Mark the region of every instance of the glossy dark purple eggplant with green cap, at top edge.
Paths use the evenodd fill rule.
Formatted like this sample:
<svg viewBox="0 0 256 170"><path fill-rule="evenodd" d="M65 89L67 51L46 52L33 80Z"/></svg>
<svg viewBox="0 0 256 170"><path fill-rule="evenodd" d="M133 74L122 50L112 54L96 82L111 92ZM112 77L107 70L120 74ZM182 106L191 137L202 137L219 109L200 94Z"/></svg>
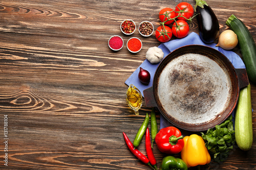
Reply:
<svg viewBox="0 0 256 170"><path fill-rule="evenodd" d="M218 18L205 1L195 1L199 36L204 43L212 43L220 34Z"/></svg>

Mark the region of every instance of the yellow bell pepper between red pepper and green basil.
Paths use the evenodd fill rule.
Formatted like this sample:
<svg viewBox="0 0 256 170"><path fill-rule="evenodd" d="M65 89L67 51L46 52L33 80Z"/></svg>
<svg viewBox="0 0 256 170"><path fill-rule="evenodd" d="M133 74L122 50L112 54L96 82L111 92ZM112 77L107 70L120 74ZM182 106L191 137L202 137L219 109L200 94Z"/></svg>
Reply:
<svg viewBox="0 0 256 170"><path fill-rule="evenodd" d="M186 163L187 167L210 163L210 154L201 136L192 134L185 136L183 139L184 148L181 151L181 159Z"/></svg>

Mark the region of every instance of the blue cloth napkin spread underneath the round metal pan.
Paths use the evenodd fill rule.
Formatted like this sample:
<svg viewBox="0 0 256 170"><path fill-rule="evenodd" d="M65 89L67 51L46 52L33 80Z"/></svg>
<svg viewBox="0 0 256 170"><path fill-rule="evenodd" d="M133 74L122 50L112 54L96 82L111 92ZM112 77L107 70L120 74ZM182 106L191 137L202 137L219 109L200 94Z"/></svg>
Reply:
<svg viewBox="0 0 256 170"><path fill-rule="evenodd" d="M199 35L195 32L191 32L185 38L175 39L175 40L171 40L171 41L168 41L168 42L165 42L165 43L161 43L158 47L162 49L162 51L164 53L164 57L166 57L170 52L176 50L177 48L185 46L185 45L191 45L191 44L205 45L205 46L215 48L216 50L218 50L222 54L224 54L231 61L234 68L245 68L245 65L244 65L244 63L243 63L243 61L242 61L242 59L240 58L239 55L237 55L236 53L234 53L232 51L223 50L223 48L221 48L221 47L216 47L215 43L205 44L200 39ZM154 78L155 71L156 71L159 64L160 63L151 64L151 62L146 59L133 72L133 74L125 81L125 84L128 85L128 86L130 84L133 84L135 87L137 87L141 91L142 96L144 97L143 90L153 86L153 78ZM146 69L148 72L150 72L151 80L150 80L150 83L148 85L144 85L139 81L138 74L139 74L139 71L140 71L140 67L142 67L143 69ZM232 113L232 115L234 117L234 112ZM162 114L160 114L160 129L162 129L164 127L168 127L168 126L173 126L173 125L171 123L169 123L168 120L166 120L162 116Z"/></svg>

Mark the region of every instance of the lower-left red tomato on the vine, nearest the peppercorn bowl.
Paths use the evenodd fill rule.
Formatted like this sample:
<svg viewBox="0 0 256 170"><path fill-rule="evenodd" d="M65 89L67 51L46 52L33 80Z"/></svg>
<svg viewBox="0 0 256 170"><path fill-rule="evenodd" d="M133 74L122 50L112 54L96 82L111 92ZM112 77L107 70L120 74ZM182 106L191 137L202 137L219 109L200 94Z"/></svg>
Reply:
<svg viewBox="0 0 256 170"><path fill-rule="evenodd" d="M173 33L172 33L172 29L169 28L168 26L159 26L156 30L155 35L158 41L167 42L172 38Z"/></svg>

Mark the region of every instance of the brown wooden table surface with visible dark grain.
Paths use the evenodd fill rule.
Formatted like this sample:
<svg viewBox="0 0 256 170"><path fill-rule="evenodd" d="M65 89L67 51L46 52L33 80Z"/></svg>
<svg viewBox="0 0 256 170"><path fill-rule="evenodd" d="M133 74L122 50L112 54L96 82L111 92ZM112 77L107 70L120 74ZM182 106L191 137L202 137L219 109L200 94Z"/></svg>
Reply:
<svg viewBox="0 0 256 170"><path fill-rule="evenodd" d="M145 60L148 48L160 42L138 31L125 36L120 23L129 18L138 27L148 20L156 28L159 11L174 9L180 2L2 0L0 169L151 169L127 149L122 135L125 132L133 140L151 108L143 102L140 115L135 115L126 104L124 82ZM195 1L184 2L195 6ZM225 21L234 14L256 39L255 0L207 3L219 19L221 32L228 29ZM198 34L196 18L190 32ZM125 43L138 37L143 48L137 54L125 46L114 52L108 46L112 35L120 35ZM242 57L239 46L232 51ZM256 85L252 82L251 100L251 150L243 152L235 145L223 163L211 161L201 169L256 169ZM157 122L159 126L159 113ZM144 143L143 139L139 150L146 154ZM159 167L166 155L156 145L153 152Z"/></svg>

